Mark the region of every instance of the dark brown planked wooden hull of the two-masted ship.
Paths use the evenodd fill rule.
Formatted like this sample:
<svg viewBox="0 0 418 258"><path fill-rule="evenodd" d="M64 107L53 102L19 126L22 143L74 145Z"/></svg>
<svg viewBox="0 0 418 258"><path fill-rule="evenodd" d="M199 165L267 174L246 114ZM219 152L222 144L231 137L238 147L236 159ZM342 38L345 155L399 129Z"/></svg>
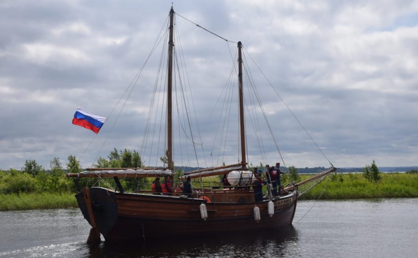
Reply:
<svg viewBox="0 0 418 258"><path fill-rule="evenodd" d="M118 193L99 187L90 188L90 195L95 225L106 241L272 231L291 225L296 209L294 192L273 201L272 217L268 214L269 200L211 202L206 203L208 218L204 220L199 209L201 199ZM92 225L83 192L76 197L84 217ZM260 210L258 222L254 219L255 206Z"/></svg>

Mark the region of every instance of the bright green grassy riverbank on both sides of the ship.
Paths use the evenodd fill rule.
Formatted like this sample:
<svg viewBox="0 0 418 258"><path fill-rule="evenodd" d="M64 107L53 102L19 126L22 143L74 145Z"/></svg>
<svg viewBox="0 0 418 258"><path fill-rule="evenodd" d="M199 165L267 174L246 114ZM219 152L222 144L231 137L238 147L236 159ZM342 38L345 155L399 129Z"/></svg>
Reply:
<svg viewBox="0 0 418 258"><path fill-rule="evenodd" d="M301 175L302 179L312 175ZM382 173L378 182L362 174L333 174L300 199L418 198L418 174ZM322 194L322 195L321 195ZM21 193L0 195L0 210L78 207L74 193Z"/></svg>

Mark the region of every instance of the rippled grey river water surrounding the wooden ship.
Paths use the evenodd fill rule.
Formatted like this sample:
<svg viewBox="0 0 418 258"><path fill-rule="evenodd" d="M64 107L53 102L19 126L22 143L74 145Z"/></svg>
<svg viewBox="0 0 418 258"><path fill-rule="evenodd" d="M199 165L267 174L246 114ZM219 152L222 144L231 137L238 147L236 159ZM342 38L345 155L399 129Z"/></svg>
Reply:
<svg viewBox="0 0 418 258"><path fill-rule="evenodd" d="M416 198L299 201L278 232L114 246L85 243L79 209L3 211L0 257L418 257L417 214Z"/></svg>

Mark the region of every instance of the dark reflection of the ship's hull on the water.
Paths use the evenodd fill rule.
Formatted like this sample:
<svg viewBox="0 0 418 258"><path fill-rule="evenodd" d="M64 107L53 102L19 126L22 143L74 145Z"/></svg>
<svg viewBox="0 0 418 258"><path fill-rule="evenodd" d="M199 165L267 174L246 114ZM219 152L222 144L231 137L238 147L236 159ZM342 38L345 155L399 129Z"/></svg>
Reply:
<svg viewBox="0 0 418 258"><path fill-rule="evenodd" d="M102 242L89 245L88 248L90 257L280 257L288 255L290 250L294 252L295 242L297 231L290 226L276 232L193 239L179 236L145 244Z"/></svg>

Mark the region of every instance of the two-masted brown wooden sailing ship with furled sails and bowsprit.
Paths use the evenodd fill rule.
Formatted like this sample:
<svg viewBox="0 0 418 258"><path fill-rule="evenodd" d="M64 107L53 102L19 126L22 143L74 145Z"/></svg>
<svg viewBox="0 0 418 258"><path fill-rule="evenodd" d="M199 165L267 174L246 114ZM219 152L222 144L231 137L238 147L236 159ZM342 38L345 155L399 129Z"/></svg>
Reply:
<svg viewBox="0 0 418 258"><path fill-rule="evenodd" d="M172 128L172 70L173 70L173 17L169 14L168 75L167 75L167 160L164 168L91 168L83 173L67 174L74 177L79 192L77 198L80 209L91 225L88 242L135 240L144 241L169 236L203 236L209 234L241 232L253 230L276 230L291 225L298 197L298 187L309 181L323 179L335 170L331 167L323 173L298 184L284 188L276 197L255 201L251 189L252 176L245 185L238 184L227 189L202 188L200 193L186 198L181 195L153 195L146 191L125 192L120 179L174 176L173 128ZM248 171L245 148L244 101L242 78L242 44L238 42L238 81L240 110L241 161L238 164L199 169L184 173L191 178L202 178L229 174L239 171L241 175L252 175ZM105 187L81 188L79 178L113 178L116 189Z"/></svg>

